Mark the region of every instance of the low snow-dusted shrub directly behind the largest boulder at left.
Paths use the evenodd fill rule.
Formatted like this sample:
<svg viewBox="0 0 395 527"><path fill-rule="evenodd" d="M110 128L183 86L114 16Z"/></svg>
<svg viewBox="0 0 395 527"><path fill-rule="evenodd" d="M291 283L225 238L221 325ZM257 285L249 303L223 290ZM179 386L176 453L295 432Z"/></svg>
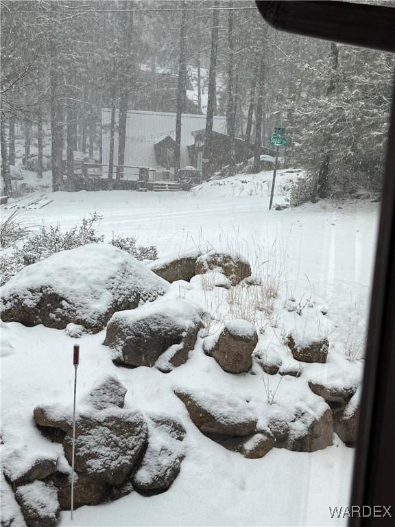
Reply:
<svg viewBox="0 0 395 527"><path fill-rule="evenodd" d="M59 226L49 228L42 226L40 231L29 237L20 248L14 244L12 253L0 256L1 285L25 266L59 253L61 250L74 249L86 244L103 243L104 235L97 233L94 227L95 222L100 219L101 216L95 212L89 218L84 218L80 226L76 225L64 233L60 232ZM132 237L113 238L110 243L138 260L154 260L158 257L156 247L136 246L136 239Z"/></svg>

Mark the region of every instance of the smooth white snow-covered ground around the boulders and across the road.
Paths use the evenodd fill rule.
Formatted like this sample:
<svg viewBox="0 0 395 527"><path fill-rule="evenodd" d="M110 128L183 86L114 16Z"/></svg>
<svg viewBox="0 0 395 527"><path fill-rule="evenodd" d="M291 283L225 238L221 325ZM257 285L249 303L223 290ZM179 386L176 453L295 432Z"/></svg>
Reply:
<svg viewBox="0 0 395 527"><path fill-rule="evenodd" d="M32 225L59 224L69 229L93 211L102 215L101 233L130 235L156 245L160 257L196 246L233 250L245 256L253 274L271 266L280 290L296 304L307 299L331 320L333 357L363 338L376 235L378 204L318 202L297 209L268 211L272 172L242 175L204 183L190 193L154 194L132 191L48 194L43 209L26 211ZM287 183L295 172L278 173L275 204L283 204ZM289 292L291 294L289 294ZM173 294L176 294L173 290ZM193 292L183 292L189 297ZM74 340L65 331L43 326L3 324L1 331L1 409L5 445L53 449L32 425L32 410L43 401L71 403ZM86 393L103 373L113 373L128 388L130 408L171 413L187 428L187 456L169 491L143 497L136 492L111 504L84 506L61 516L61 526L329 526L329 506L348 504L353 450L338 438L331 447L312 454L272 449L250 460L229 452L203 436L189 421L187 410L173 395L175 386L259 393L258 376L238 383L203 353L164 375L155 368L133 370L112 364L102 345L104 331L80 338L80 393ZM337 360L337 359L336 359ZM210 365L210 366L209 366ZM340 366L339 366L340 365ZM337 360L344 375L361 375L361 362ZM290 377L292 379L292 377ZM240 387L241 386L241 387ZM291 397L288 380L278 397ZM283 391L281 391L283 390ZM281 395L281 393L283 395ZM284 400L285 400L284 399ZM282 399L281 399L282 400Z"/></svg>

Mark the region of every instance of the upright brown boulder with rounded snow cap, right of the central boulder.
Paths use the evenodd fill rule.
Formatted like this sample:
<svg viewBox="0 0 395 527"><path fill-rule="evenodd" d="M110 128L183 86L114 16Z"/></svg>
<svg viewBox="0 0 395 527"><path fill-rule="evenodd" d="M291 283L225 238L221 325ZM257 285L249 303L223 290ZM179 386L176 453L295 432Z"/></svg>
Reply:
<svg viewBox="0 0 395 527"><path fill-rule="evenodd" d="M228 373L242 373L252 366L258 333L248 320L229 320L211 350L219 366Z"/></svg>

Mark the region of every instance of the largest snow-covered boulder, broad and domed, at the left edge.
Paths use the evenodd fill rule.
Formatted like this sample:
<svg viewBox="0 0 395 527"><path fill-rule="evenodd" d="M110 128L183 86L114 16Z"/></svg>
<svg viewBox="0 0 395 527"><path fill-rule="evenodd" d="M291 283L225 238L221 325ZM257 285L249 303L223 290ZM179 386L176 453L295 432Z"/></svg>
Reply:
<svg viewBox="0 0 395 527"><path fill-rule="evenodd" d="M93 333L112 314L153 301L169 284L111 244L62 250L23 268L0 290L1 318L25 326L64 329L69 323Z"/></svg>

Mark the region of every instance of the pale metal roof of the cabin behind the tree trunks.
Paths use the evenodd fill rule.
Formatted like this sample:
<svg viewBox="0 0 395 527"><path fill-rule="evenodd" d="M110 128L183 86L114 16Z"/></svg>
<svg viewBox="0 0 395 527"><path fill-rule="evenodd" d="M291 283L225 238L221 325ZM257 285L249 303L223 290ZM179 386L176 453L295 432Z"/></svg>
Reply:
<svg viewBox="0 0 395 527"><path fill-rule="evenodd" d="M101 110L103 164L110 154L111 110ZM118 110L115 115L114 163L118 162ZM194 143L192 132L206 127L206 115L183 114L181 120L181 167L190 165L187 146ZM213 130L226 133L226 117L214 117ZM176 114L167 112L128 111L126 121L125 165L155 167L154 144L167 135L176 139Z"/></svg>

